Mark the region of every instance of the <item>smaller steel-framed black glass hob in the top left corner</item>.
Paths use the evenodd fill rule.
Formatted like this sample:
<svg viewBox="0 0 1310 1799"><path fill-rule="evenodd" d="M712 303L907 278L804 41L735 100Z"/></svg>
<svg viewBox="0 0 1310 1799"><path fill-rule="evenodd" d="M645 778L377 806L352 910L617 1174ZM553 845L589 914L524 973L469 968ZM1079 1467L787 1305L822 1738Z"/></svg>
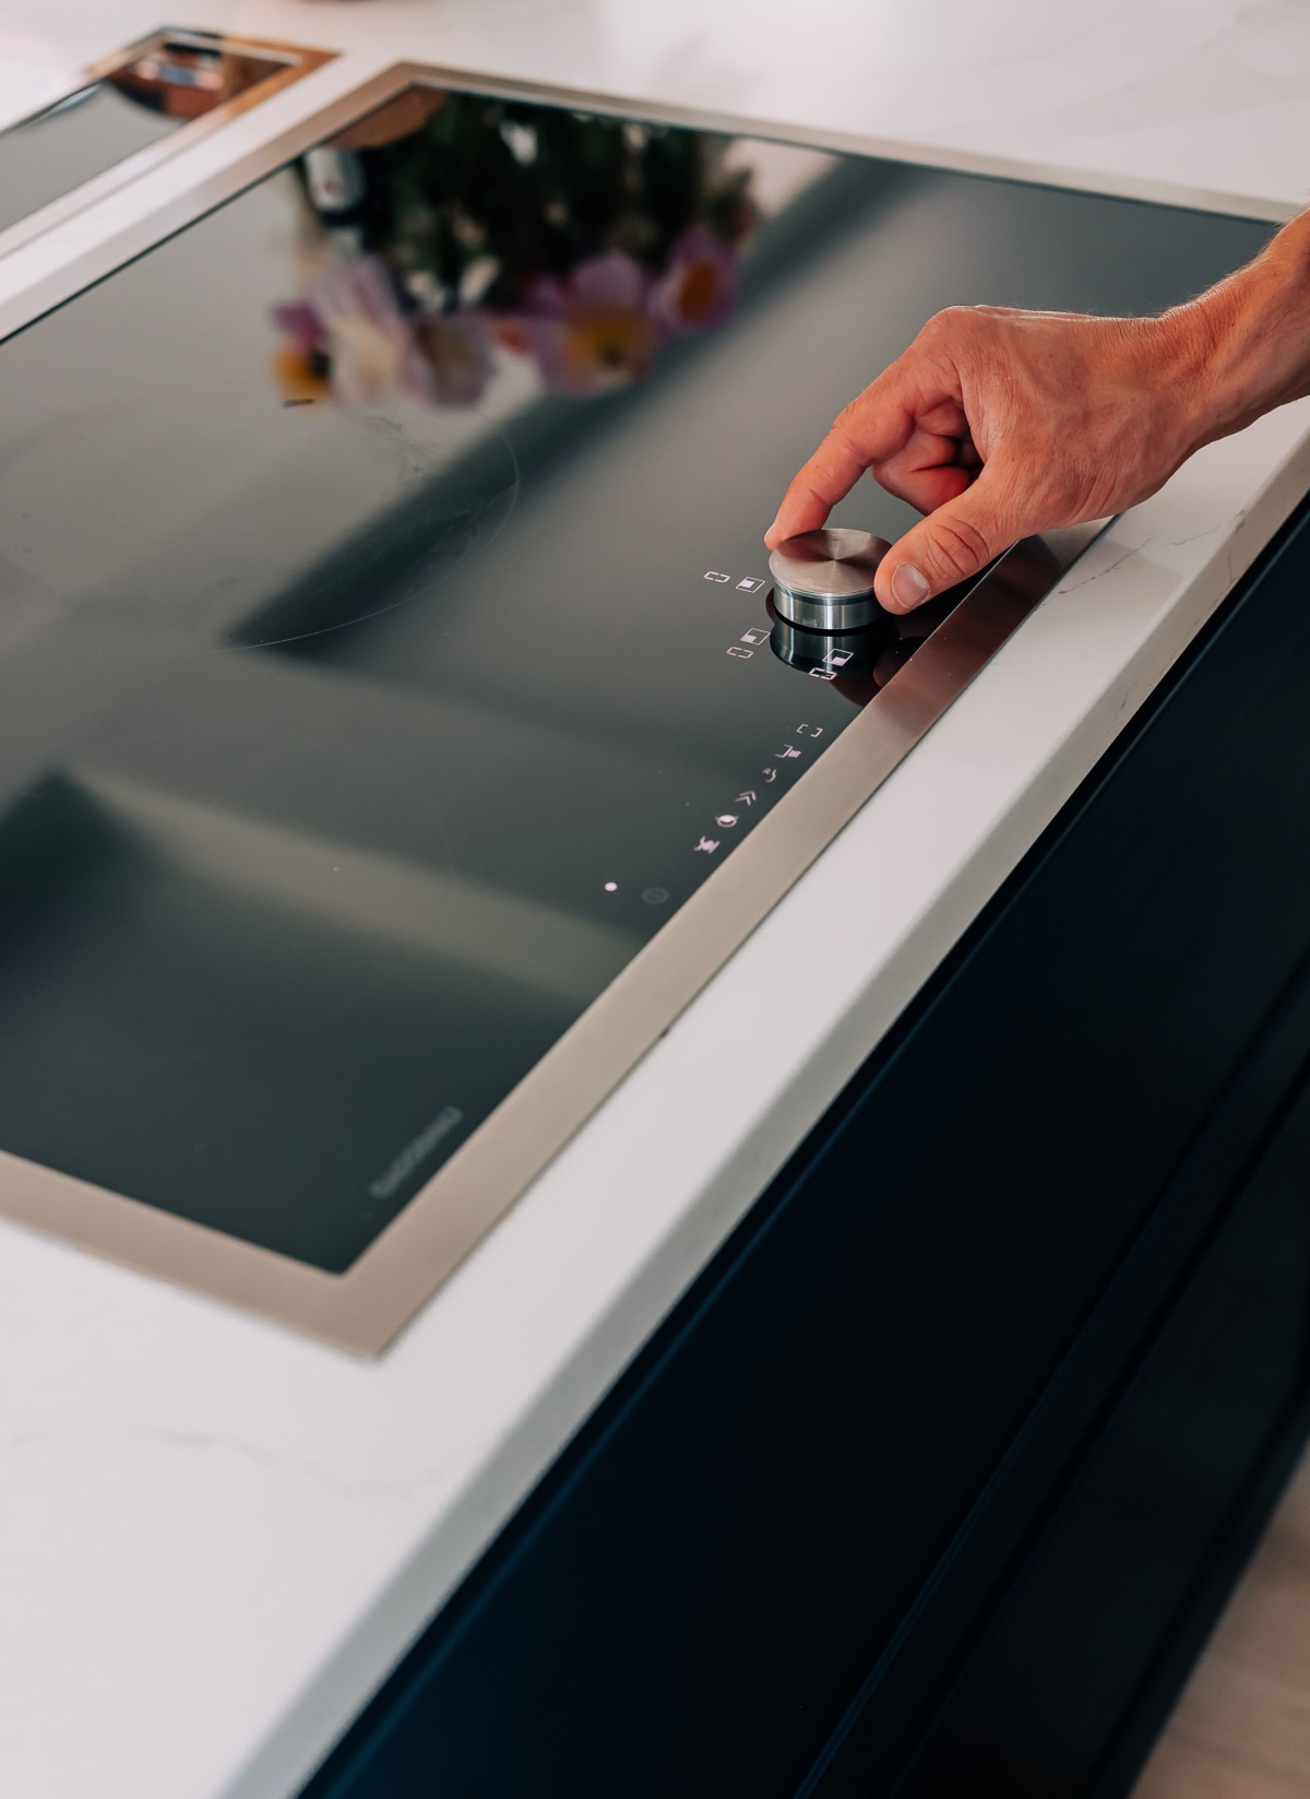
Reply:
<svg viewBox="0 0 1310 1799"><path fill-rule="evenodd" d="M0 130L0 254L153 167L196 121L221 124L325 61L207 31L156 31L115 50L72 94Z"/></svg>

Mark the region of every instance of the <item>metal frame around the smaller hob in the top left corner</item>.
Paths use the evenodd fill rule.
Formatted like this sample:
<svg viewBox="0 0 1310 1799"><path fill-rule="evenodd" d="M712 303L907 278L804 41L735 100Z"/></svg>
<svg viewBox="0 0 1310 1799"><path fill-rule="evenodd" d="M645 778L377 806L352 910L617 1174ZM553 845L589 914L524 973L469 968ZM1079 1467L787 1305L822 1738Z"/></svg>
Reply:
<svg viewBox="0 0 1310 1799"><path fill-rule="evenodd" d="M162 49L167 43L185 45L187 49L217 49L232 56L250 54L266 58L273 63L282 63L284 67L277 74L264 76L262 81L255 81L252 86L243 88L241 94L234 94L232 99L221 101L198 119L178 126L176 131L158 139L158 142L147 144L146 149L133 151L131 157L122 157L108 169L102 169L101 175L92 176L88 182L79 182L77 187L72 187L66 194L59 194L58 200L50 200L49 205L38 207L36 212L29 212L27 218L14 219L13 225L0 232L0 257L9 255L13 250L31 243L34 237L43 236L43 232L52 230L56 225L63 225L65 219L74 218L77 212L84 212L86 207L95 205L99 200L106 200L128 182L135 182L138 176L156 169L162 162L176 157L178 151L187 149L198 139L216 131L221 124L226 124L228 119L235 119L239 113L248 112L252 106L270 99L273 94L280 94L282 88L304 79L304 76L313 74L314 68L322 68L338 56L336 50L311 50L305 45L275 43L262 38L232 38L225 32L153 31L149 36L138 38L135 43L124 45L124 49L113 50L110 56L92 63L86 76L77 83L77 86L70 88L63 99L68 99L72 94L79 94L95 81L104 81L108 76L117 74L117 70L126 68L142 56L147 56L153 49ZM59 99L47 101L43 106L38 106L34 113L29 113L27 119L40 117L40 113L49 112L58 104ZM4 130L20 130L27 124L27 119L14 119Z"/></svg>

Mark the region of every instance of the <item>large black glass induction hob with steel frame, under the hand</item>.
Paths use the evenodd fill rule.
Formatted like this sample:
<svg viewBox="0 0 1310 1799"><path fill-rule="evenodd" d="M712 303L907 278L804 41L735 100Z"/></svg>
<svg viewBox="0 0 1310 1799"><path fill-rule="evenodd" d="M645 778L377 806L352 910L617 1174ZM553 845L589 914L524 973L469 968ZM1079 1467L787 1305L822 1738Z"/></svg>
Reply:
<svg viewBox="0 0 1310 1799"><path fill-rule="evenodd" d="M0 344L0 1209L376 1351L1091 534L798 631L828 419L1269 228L412 68L196 212Z"/></svg>

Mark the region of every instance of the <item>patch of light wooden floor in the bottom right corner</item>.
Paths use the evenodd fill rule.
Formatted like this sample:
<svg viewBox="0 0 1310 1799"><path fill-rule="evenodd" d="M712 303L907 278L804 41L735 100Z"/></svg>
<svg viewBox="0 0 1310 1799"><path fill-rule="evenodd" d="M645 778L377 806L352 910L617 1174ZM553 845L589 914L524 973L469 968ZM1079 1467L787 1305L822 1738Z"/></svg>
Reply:
<svg viewBox="0 0 1310 1799"><path fill-rule="evenodd" d="M1310 1455L1132 1799L1308 1799Z"/></svg>

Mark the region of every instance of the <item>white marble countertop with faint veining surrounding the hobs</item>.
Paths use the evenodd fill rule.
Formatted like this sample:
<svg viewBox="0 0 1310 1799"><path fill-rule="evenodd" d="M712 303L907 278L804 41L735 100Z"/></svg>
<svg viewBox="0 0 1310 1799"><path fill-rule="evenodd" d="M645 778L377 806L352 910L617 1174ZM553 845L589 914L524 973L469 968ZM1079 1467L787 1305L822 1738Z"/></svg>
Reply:
<svg viewBox="0 0 1310 1799"><path fill-rule="evenodd" d="M7 259L0 302L397 58L1263 218L1310 191L1306 0L185 14L347 54ZM9 0L0 117L158 23ZM0 1223L0 1792L289 1799L1308 486L1303 403L1121 518L383 1358Z"/></svg>

